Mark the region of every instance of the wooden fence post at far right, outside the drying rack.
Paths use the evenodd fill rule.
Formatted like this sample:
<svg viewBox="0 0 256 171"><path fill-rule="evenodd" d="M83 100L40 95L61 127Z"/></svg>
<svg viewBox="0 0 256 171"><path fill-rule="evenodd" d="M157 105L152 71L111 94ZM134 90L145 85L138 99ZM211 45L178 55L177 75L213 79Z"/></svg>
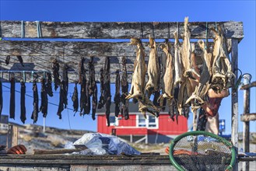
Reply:
<svg viewBox="0 0 256 171"><path fill-rule="evenodd" d="M247 79L247 78L245 78ZM250 81L248 82L250 83ZM244 113L250 113L250 88L244 90ZM243 123L243 148L250 152L250 121ZM249 170L249 162L243 162L243 170Z"/></svg>

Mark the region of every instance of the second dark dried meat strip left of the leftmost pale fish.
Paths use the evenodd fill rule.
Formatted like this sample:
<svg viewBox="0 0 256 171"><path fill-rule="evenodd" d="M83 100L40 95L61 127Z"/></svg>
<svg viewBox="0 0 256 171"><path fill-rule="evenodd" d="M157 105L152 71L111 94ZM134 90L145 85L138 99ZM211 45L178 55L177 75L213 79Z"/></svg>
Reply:
<svg viewBox="0 0 256 171"><path fill-rule="evenodd" d="M121 103L121 96L120 96L120 75L119 69L116 71L116 80L115 80L115 94L114 94L114 115L118 117L120 113L120 103Z"/></svg>

